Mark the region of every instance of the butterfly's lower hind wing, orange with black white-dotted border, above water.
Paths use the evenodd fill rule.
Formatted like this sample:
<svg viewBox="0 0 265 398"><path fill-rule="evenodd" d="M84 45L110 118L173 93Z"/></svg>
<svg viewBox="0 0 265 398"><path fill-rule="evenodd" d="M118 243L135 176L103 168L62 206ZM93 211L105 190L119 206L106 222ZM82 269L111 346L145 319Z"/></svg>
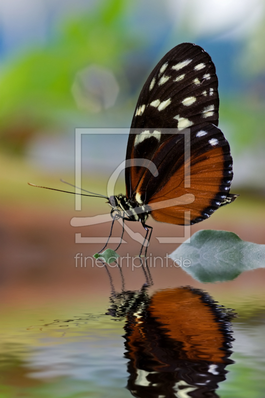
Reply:
<svg viewBox="0 0 265 398"><path fill-rule="evenodd" d="M165 142L154 155L160 176L145 172L139 181L137 198L148 203L152 217L172 224L189 224L185 211L190 211L190 224L208 218L225 204L233 178L230 147L222 131L213 124L191 127L190 158L184 158L182 138ZM182 144L182 145L181 145ZM160 159L163 161L160 162ZM177 161L176 161L177 158ZM185 165L190 165L190 184L185 180ZM193 195L194 201L183 205L155 209L156 202Z"/></svg>

